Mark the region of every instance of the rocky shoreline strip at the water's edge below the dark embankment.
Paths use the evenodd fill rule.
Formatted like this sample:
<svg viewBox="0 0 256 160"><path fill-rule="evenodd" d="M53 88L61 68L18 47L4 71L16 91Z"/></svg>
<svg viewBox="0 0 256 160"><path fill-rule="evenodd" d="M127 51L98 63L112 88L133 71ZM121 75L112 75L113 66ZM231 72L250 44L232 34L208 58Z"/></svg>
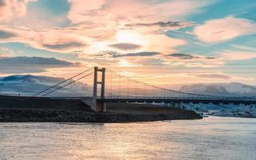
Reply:
<svg viewBox="0 0 256 160"><path fill-rule="evenodd" d="M181 114L111 114L81 110L0 109L0 122L151 122L202 118L193 111Z"/></svg>

